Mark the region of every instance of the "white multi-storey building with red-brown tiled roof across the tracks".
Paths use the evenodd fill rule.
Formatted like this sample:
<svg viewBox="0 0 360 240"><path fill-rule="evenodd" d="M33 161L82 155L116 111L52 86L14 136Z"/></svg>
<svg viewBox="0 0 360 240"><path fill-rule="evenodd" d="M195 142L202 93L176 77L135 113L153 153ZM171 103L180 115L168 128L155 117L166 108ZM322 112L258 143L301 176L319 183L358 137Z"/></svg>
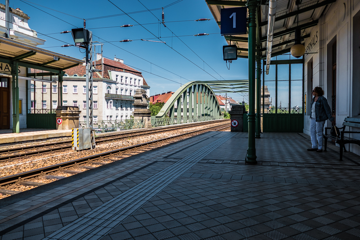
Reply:
<svg viewBox="0 0 360 240"><path fill-rule="evenodd" d="M150 95L148 86L141 72L125 65L122 59L101 58L96 60L93 73L93 114L94 121L114 121L129 119L134 110L134 94L137 89L144 89ZM37 87L39 89L39 87ZM53 95L53 96L51 96ZM56 109L59 103L58 86L42 83L36 102L43 109ZM80 64L69 68L63 76L62 105L75 106L81 110L80 122L86 121L86 65Z"/></svg>

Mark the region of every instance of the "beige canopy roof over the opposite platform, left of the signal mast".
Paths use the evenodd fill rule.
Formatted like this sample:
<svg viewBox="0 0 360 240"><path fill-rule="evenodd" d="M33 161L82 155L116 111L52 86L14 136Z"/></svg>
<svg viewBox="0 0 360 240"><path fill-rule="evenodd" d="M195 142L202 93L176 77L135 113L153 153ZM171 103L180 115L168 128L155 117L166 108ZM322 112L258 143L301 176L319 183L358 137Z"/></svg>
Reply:
<svg viewBox="0 0 360 240"><path fill-rule="evenodd" d="M0 37L0 62L12 64L15 60L22 67L58 74L84 62L80 59Z"/></svg>

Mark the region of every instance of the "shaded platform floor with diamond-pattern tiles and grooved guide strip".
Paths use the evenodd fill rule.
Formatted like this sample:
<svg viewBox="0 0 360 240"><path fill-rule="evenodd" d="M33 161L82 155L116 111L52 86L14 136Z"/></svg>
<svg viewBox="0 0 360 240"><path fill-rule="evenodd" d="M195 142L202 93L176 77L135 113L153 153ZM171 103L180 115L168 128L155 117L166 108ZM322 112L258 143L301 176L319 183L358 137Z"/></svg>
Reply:
<svg viewBox="0 0 360 240"><path fill-rule="evenodd" d="M0 200L1 240L359 239L360 157L207 132Z"/></svg>

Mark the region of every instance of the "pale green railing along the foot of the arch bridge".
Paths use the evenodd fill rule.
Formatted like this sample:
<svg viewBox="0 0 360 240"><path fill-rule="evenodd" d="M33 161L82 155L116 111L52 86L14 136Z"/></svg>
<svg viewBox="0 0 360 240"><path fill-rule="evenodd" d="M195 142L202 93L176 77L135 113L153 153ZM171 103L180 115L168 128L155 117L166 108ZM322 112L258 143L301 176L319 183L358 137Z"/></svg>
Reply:
<svg viewBox="0 0 360 240"><path fill-rule="evenodd" d="M180 124L180 123L190 123L190 122L201 122L201 121L210 121L210 120L217 120L222 119L223 116L202 116L202 117L175 117L175 118L152 118L151 124L153 127L159 126L167 126L173 124Z"/></svg>

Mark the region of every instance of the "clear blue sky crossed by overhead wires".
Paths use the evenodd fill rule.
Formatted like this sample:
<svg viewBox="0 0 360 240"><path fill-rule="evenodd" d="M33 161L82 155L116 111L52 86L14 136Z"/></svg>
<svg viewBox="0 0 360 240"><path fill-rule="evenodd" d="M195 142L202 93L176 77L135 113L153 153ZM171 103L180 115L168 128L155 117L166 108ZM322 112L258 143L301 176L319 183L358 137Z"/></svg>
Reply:
<svg viewBox="0 0 360 240"><path fill-rule="evenodd" d="M174 3L175 1L176 0L140 0L140 2L148 9L162 8L166 5ZM144 27L138 25L138 23L136 23L127 15L91 20L90 18L123 14L120 9L107 0L30 0L30 2L25 0L10 0L10 6L13 8L20 8L24 13L28 14L31 18L29 20L30 28L37 31L40 38L47 40L45 45L39 45L39 47L46 47L47 50L72 56L78 59L82 59L85 54L80 53L77 47L54 46L60 46L66 43L73 44L71 33L59 34L59 32L65 30L70 31L71 28L75 28L74 26L82 27L82 19L88 19L86 21L86 28L91 30L93 35L96 36L93 37L93 41L99 40L104 43L103 55L107 58L114 58L114 55L116 55L117 58L123 59L125 64L143 72L145 80L151 87L151 95L166 91L176 91L180 87L180 82L186 83L188 81L194 80L220 80L219 74L222 77L221 80L239 80L248 78L247 59L238 59L233 61L233 63L230 65L230 70L227 69L225 61L222 60L222 46L226 45L226 41L224 37L220 35L220 29L217 26L215 20L212 19L213 16L204 0L182 0L172 6L168 6L164 10L165 24L167 28L161 24L160 29L159 24L149 23L158 23L158 19L161 20L161 9L152 11L152 13L156 16L155 17L152 13L148 12L147 9L141 5L138 0L113 0L112 2L126 13L145 10L145 12L129 15L130 17L134 18L135 21L147 28L147 30L145 30ZM1 0L1 3L5 4L5 1ZM55 9L59 12L44 8L44 6ZM35 7L41 9L42 11L36 9ZM55 17L49 15L48 13L54 15ZM75 17L66 14L70 14ZM205 22L194 21L195 19L199 18L211 18L212 20ZM127 28L113 27L122 26L124 24L132 24L136 26ZM169 30L174 32L174 34L177 36L183 36L180 37L180 39L187 46L189 46L191 50L176 37L171 37L172 33ZM197 33L216 34L196 37L184 36L195 35ZM46 34L47 36L41 34ZM158 42L145 42L140 40L132 42L119 42L123 39L137 40L150 38L154 38L150 40L159 41L159 39L156 39L153 34L156 35L156 37L159 37L162 41L165 41L166 45ZM98 39L98 37L102 38L103 40ZM112 42L113 45L105 42L104 40L109 42L114 41ZM181 56L175 50L183 56ZM203 59L205 63L197 55L195 55L192 50L201 59ZM139 58L138 56L145 59L146 61ZM184 58L184 56L191 62ZM149 62L156 64L170 72L173 72L181 76L181 78L175 74L156 67ZM213 71L206 63L219 74ZM203 69L206 72L203 71ZM171 82L144 71L152 72L156 75L171 79L179 83ZM210 74L207 72L212 76L210 76ZM243 100L243 96L237 93L231 93L228 95L235 100ZM245 96L245 101L248 101L247 94Z"/></svg>

